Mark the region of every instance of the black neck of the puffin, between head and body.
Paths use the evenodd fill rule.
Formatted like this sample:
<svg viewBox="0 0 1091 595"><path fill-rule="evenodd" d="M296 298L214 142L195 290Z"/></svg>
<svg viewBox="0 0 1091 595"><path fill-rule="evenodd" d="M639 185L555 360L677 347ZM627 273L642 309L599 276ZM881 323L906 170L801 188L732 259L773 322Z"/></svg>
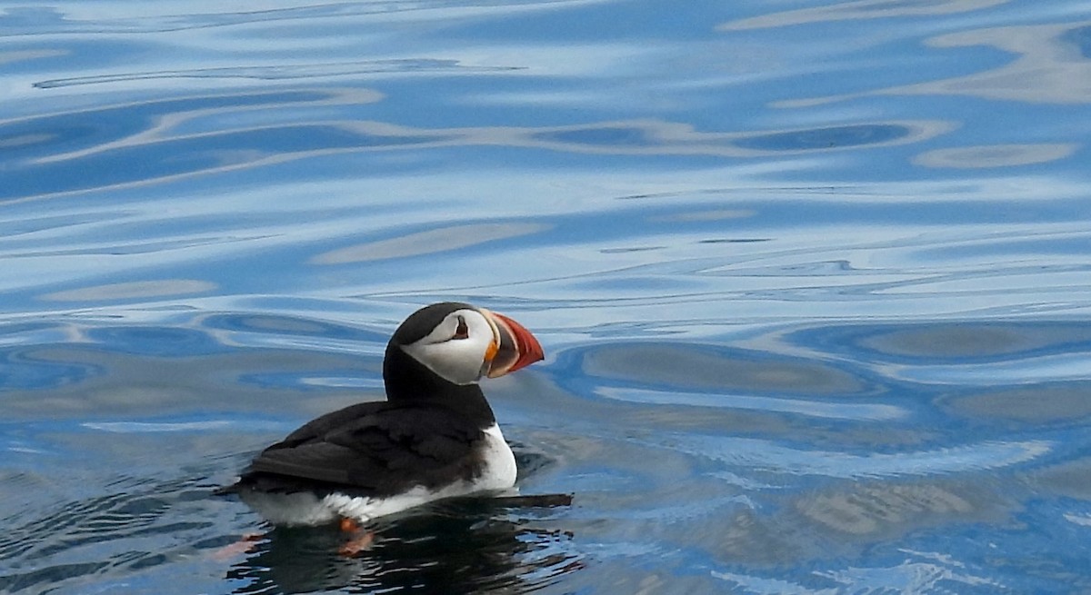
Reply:
<svg viewBox="0 0 1091 595"><path fill-rule="evenodd" d="M482 428L496 421L481 387L441 378L393 342L386 345L383 357L383 382L386 400L392 403L428 402L463 413L478 421Z"/></svg>

